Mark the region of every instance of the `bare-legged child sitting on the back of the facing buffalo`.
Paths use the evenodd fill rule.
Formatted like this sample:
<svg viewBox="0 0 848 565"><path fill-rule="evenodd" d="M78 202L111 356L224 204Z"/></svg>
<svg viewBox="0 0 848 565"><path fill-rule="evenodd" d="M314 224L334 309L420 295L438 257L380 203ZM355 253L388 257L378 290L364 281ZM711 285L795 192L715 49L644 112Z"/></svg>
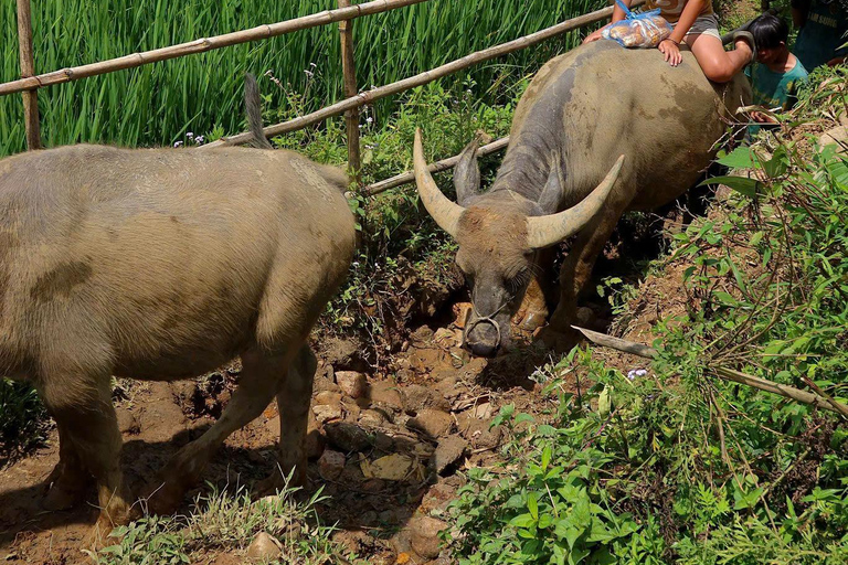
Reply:
<svg viewBox="0 0 848 565"><path fill-rule="evenodd" d="M632 0L622 0L627 8ZM750 33L738 31L733 34L732 51L724 51L719 34L719 21L712 10L712 0L648 0L646 9L659 8L660 15L674 26L671 35L664 40L657 49L665 55L671 66L677 66L683 60L680 44L686 42L698 60L698 64L712 82L727 83L754 58L755 46ZM624 19L624 10L619 6L613 12L613 22ZM591 33L584 43L601 39L601 31Z"/></svg>

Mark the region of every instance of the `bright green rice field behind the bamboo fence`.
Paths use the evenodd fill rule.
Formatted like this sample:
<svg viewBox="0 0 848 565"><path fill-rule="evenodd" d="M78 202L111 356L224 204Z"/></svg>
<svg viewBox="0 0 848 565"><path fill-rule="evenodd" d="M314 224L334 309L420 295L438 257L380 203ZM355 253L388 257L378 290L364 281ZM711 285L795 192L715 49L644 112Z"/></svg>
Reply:
<svg viewBox="0 0 848 565"><path fill-rule="evenodd" d="M431 0L357 20L360 88L404 78L605 4ZM333 0L33 1L35 70L93 63L336 7ZM0 81L8 82L20 74L14 2L0 4ZM577 41L573 33L446 81L470 85L476 96L497 102L517 79ZM327 25L43 88L42 139L47 147L138 147L173 143L188 131L206 137L234 132L243 125L247 71L273 75L276 81L265 76L259 85L271 96L268 107L280 108L280 115L316 109L342 97L339 52L338 25ZM383 104L375 117L384 120L390 111L391 104ZM24 149L22 115L20 95L0 98L0 156Z"/></svg>

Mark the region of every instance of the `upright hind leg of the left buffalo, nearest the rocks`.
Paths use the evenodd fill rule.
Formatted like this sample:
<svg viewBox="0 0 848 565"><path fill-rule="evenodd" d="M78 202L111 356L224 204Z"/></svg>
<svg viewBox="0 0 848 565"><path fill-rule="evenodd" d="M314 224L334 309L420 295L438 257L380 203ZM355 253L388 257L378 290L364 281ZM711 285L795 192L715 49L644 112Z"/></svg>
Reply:
<svg viewBox="0 0 848 565"><path fill-rule="evenodd" d="M286 381L277 393L279 408L279 444L277 469L257 484L259 492L278 490L292 473L292 484L306 484L306 431L309 425L309 406L312 398L312 381L318 361L308 344L304 344L292 361ZM294 472L292 472L294 471Z"/></svg>

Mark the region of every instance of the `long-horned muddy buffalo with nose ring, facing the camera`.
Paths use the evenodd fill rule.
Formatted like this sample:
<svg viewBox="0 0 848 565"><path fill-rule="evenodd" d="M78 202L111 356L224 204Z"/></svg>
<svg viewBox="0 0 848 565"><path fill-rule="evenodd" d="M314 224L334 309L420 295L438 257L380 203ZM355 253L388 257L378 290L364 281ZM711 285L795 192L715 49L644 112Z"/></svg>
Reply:
<svg viewBox="0 0 848 565"><path fill-rule="evenodd" d="M418 193L459 244L456 263L471 290L466 347L492 355L507 344L510 317L522 300L526 322L544 320L545 282L533 275L547 270L544 256L551 254L540 250L579 233L543 333L550 344L569 343L577 296L618 218L689 189L713 159L727 120L750 97L742 76L725 85L707 81L691 53L672 68L657 50L600 41L549 61L536 75L488 192L478 193L471 142L454 173L458 203L446 199L416 136Z"/></svg>

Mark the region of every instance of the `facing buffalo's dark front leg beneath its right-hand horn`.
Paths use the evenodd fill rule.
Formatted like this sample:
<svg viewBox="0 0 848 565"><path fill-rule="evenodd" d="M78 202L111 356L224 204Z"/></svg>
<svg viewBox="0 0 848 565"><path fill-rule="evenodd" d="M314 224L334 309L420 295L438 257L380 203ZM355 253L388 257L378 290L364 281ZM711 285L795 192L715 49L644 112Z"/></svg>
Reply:
<svg viewBox="0 0 848 565"><path fill-rule="evenodd" d="M542 340L548 347L565 351L580 341L577 332L571 328L577 317L577 299L589 285L595 260L610 241L626 207L627 202L611 200L603 212L577 235L560 270L560 303L542 333Z"/></svg>

